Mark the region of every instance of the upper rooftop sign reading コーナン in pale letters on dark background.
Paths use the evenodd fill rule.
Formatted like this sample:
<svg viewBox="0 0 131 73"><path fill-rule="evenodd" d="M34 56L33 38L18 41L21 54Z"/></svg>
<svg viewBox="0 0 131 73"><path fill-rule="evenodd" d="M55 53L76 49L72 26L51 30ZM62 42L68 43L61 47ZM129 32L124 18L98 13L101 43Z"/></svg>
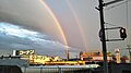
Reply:
<svg viewBox="0 0 131 73"><path fill-rule="evenodd" d="M16 56L29 56L29 54L35 54L35 50L34 49L29 49L29 50L16 50L15 51Z"/></svg>

